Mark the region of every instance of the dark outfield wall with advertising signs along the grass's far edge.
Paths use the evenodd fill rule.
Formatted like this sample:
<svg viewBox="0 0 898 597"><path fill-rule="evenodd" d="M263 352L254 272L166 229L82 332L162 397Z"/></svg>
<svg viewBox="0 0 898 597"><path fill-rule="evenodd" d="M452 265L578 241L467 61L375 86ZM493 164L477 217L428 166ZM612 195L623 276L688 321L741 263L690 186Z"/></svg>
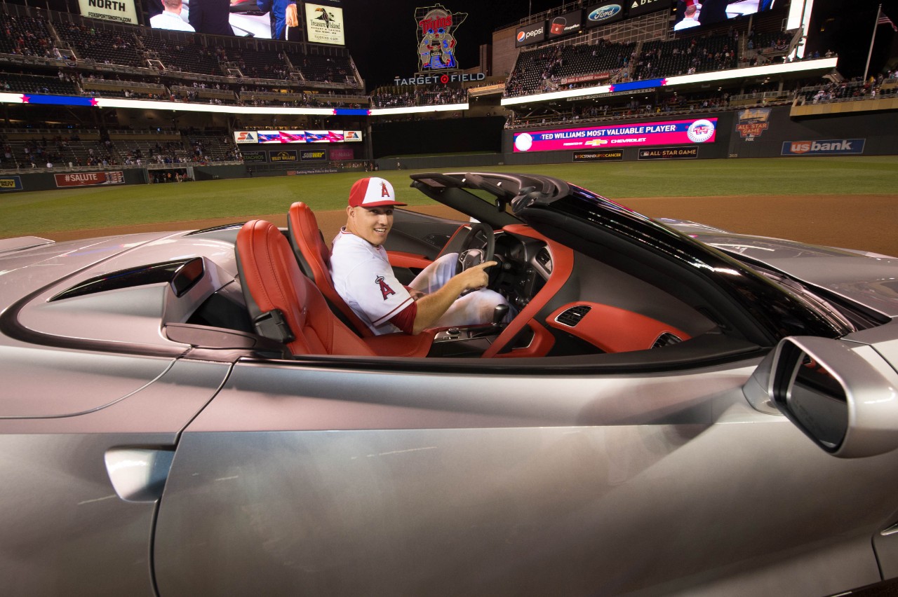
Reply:
<svg viewBox="0 0 898 597"><path fill-rule="evenodd" d="M720 158L779 158L800 159L802 156L827 155L898 155L898 115L894 111L847 114L834 117L789 117L789 106L775 108L745 108L728 112L703 112L696 115L665 116L663 114L638 120L602 121L600 123L566 123L545 125L528 129L503 130L494 133L501 136L502 152L465 155L435 155L415 158L381 158L374 160L382 170L408 169L475 169L480 167L515 167L571 162L642 161L642 160L715 160ZM709 120L716 123L713 138L703 139L707 127L687 131L682 123ZM480 119L484 125L495 124L495 118ZM445 150L437 131L444 131L458 120L417 121L396 123L394 133L409 138L409 126L414 126L415 143L436 151ZM678 123L676 132L670 129ZM385 125L382 125L385 127ZM616 127L616 128L615 128ZM640 128L641 127L641 128ZM468 127L457 126L460 136L471 135ZM592 137L578 136L585 129L603 129ZM595 142L588 147L562 151L515 151L515 134L537 135L553 132L551 143L555 145L575 142L577 139L608 139L608 143ZM643 131L648 131L643 132ZM630 133L632 132L632 133ZM379 132L379 134L384 134ZM486 129L481 134L489 134ZM689 141L683 135L689 134ZM655 136L653 136L655 135ZM666 136L665 136L666 135ZM679 136L677 136L679 135ZM617 139L623 143L637 143L645 137L648 143L634 146L615 146ZM666 140L674 143L664 143ZM558 142L558 143L555 143ZM683 143L685 142L685 143ZM550 143L550 144L551 144ZM414 144L414 143L413 143ZM471 148L479 146L471 143ZM534 143L533 147L538 147ZM335 171L364 170L365 160L351 164L325 162L320 167L306 164L277 165L252 164L227 166L190 166L191 177L198 180L238 178L248 176L283 176L317 174ZM172 166L178 169L177 165ZM250 173L249 169L252 169ZM183 170L183 168L181 168ZM41 191L57 188L99 185L139 185L150 182L155 170L145 168L92 169L92 170L42 170L29 172L0 171L0 192Z"/></svg>

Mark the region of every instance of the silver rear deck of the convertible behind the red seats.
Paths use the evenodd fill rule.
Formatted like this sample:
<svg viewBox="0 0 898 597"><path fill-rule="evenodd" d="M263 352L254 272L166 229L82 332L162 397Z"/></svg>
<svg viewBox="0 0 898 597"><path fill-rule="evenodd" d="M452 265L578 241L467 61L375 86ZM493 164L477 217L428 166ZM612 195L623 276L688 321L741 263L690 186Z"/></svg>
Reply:
<svg viewBox="0 0 898 597"><path fill-rule="evenodd" d="M136 250L139 248L139 250ZM167 284L157 283L51 301L58 293L108 273L146 264L201 255L207 264L203 288L175 301ZM0 304L21 299L22 288L37 289L17 314L28 330L48 337L128 342L179 350L162 333L165 323L180 323L202 299L234 280L233 244L184 233L130 235L101 241L71 241L40 247L35 255L0 255ZM16 292L18 291L18 292ZM177 302L187 302L177 306ZM0 337L0 342L8 342ZM180 345L180 350L187 347ZM111 350L114 350L111 349Z"/></svg>

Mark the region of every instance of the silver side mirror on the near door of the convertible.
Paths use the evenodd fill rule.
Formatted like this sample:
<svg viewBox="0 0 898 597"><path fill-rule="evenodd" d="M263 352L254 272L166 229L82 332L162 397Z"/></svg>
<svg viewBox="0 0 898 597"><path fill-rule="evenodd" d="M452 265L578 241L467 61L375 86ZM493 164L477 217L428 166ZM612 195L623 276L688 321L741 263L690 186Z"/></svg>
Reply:
<svg viewBox="0 0 898 597"><path fill-rule="evenodd" d="M834 456L872 456L898 447L898 372L869 344L785 338L773 355L768 394Z"/></svg>

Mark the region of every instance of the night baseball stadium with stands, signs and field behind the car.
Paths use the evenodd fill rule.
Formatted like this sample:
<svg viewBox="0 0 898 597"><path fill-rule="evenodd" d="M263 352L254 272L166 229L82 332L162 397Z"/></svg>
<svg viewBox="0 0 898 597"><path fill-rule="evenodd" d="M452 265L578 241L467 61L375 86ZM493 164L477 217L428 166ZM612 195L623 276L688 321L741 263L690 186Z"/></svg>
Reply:
<svg viewBox="0 0 898 597"><path fill-rule="evenodd" d="M486 168L557 173L651 216L898 254L895 35L876 7L839 29L821 2L740 5L681 32L682 1L562 4L467 41L484 16L436 4L409 9L421 26L395 36L408 57L390 81L365 79L338 4L297 4L279 37L258 6L191 33L154 26L162 4L113 4L6 4L3 237L283 222L296 199L342 211L365 170L402 188L394 170ZM214 27L230 35L205 37ZM478 45L480 64L461 64ZM697 121L710 136L693 142ZM189 184L155 186L170 181Z"/></svg>

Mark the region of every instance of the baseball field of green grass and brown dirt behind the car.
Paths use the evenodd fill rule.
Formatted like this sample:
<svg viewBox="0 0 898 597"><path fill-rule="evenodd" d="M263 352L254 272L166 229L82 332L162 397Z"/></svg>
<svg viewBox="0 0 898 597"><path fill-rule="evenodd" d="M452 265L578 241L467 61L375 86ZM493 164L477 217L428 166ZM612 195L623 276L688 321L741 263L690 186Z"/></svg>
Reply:
<svg viewBox="0 0 898 597"><path fill-rule="evenodd" d="M898 157L675 160L479 170L545 174L653 217L745 234L898 255ZM383 171L413 209L452 216L411 190L409 171ZM290 203L318 215L325 238L344 219L364 173L102 186L0 195L0 238L55 240L195 229L252 218L286 225Z"/></svg>

